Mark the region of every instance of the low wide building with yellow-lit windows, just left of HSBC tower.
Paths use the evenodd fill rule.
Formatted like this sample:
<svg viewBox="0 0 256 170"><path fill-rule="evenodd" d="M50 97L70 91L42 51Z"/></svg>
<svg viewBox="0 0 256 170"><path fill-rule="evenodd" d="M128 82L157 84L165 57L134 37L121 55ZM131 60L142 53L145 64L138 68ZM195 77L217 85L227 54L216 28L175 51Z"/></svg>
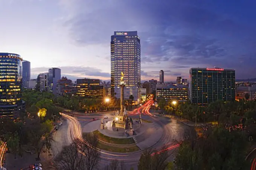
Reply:
<svg viewBox="0 0 256 170"><path fill-rule="evenodd" d="M103 86L99 79L77 79L76 95L81 97L103 96Z"/></svg>

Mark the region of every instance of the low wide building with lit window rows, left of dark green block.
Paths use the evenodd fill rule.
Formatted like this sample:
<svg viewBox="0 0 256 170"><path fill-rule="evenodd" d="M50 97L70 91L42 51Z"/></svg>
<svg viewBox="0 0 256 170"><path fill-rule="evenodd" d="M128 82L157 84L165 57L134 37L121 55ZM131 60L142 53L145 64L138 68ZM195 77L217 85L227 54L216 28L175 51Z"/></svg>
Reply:
<svg viewBox="0 0 256 170"><path fill-rule="evenodd" d="M156 85L156 98L177 101L185 101L188 99L187 86L172 86L171 84L157 84Z"/></svg>

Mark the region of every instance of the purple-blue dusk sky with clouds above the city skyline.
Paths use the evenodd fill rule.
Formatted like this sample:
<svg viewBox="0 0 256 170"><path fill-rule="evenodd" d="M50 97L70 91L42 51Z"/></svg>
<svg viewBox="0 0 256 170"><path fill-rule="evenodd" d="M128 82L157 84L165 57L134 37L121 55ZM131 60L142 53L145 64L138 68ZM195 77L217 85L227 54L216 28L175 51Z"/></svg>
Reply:
<svg viewBox="0 0 256 170"><path fill-rule="evenodd" d="M138 31L142 80L189 77L192 67L256 77L255 0L0 0L0 51L31 62L32 78L110 80L114 31Z"/></svg>

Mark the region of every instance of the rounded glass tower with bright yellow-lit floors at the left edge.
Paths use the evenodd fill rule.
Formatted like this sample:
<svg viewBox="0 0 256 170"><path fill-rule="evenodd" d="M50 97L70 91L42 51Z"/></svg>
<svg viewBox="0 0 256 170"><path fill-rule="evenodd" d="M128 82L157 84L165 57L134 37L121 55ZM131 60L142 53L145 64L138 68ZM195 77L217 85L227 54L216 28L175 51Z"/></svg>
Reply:
<svg viewBox="0 0 256 170"><path fill-rule="evenodd" d="M0 53L0 117L16 117L22 108L22 59L18 54Z"/></svg>

